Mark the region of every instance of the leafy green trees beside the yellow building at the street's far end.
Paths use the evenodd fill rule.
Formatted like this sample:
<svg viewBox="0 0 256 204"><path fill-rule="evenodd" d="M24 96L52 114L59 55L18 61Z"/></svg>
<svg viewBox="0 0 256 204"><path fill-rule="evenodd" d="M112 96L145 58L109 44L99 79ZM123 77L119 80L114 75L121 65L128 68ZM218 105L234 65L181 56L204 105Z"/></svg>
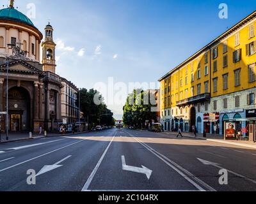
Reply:
<svg viewBox="0 0 256 204"><path fill-rule="evenodd" d="M152 92L147 95L143 90L137 89L133 91L133 94L129 94L126 103L124 105L124 124L126 126L134 126L135 128L148 128L145 125L146 120L149 120L152 124L152 120L157 120L157 113L152 112L151 108L154 105L145 103L144 99L148 100L148 97ZM151 96L154 97L154 96ZM141 101L141 102L140 102Z"/></svg>

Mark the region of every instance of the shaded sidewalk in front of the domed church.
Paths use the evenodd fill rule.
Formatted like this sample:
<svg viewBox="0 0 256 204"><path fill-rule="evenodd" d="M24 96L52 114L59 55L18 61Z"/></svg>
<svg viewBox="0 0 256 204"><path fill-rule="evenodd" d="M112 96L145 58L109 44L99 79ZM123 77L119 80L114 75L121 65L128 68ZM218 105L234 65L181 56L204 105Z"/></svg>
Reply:
<svg viewBox="0 0 256 204"><path fill-rule="evenodd" d="M82 133L88 133L88 131L84 131ZM68 133L66 135L62 135L60 133L48 133L47 136L72 136L72 135L77 135L81 133ZM8 140L6 140L6 134L1 133L1 140L0 143L8 143L8 142L17 142L17 141L22 141L22 140L33 140L36 138L44 138L45 136L39 135L39 134L32 134L32 138L29 138L29 133L9 133L8 134Z"/></svg>

